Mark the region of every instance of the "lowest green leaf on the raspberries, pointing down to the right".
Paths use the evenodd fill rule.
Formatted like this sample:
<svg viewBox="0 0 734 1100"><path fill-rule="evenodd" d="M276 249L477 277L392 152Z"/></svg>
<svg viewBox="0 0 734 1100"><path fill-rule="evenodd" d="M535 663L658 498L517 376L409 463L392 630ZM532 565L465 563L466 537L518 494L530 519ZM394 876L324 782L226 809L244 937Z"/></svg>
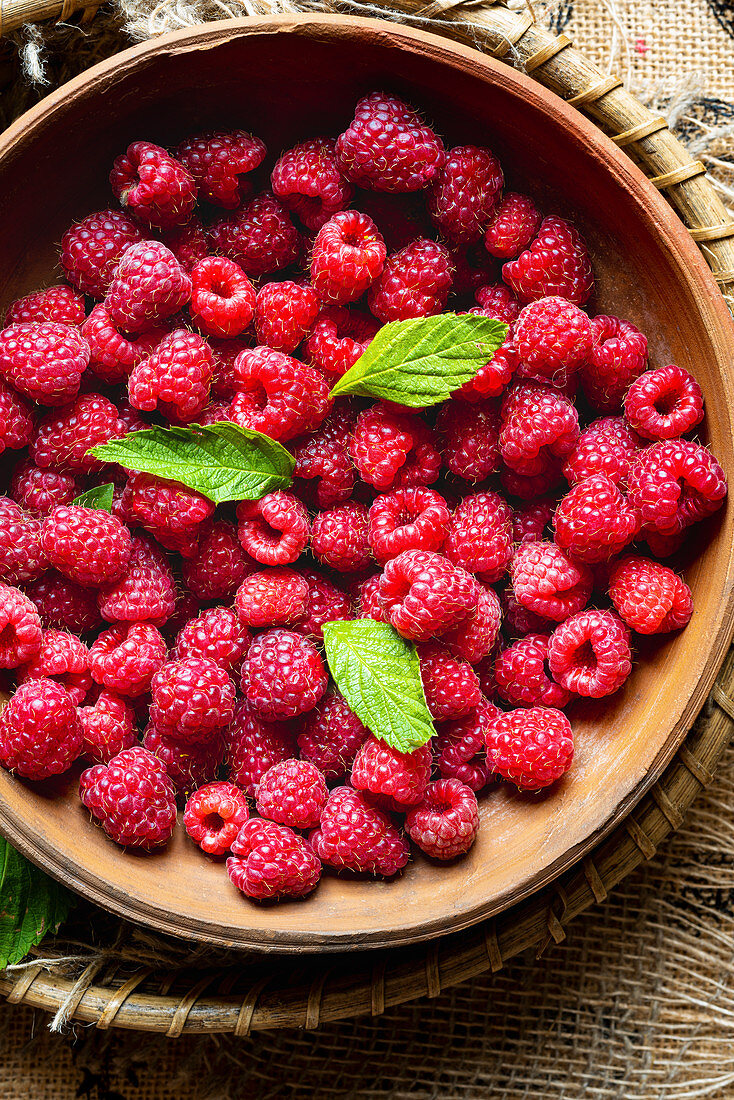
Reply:
<svg viewBox="0 0 734 1100"><path fill-rule="evenodd" d="M375 737L399 752L430 740L415 646L374 619L325 623L324 645L339 691Z"/></svg>

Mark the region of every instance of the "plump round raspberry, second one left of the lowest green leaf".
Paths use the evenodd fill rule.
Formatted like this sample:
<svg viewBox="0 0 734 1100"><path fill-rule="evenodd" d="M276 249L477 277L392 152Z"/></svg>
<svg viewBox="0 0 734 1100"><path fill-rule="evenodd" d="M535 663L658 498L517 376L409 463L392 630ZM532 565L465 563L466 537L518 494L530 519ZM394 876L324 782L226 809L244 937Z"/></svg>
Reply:
<svg viewBox="0 0 734 1100"><path fill-rule="evenodd" d="M151 680L151 722L184 744L210 741L234 714L234 684L206 657L163 664Z"/></svg>

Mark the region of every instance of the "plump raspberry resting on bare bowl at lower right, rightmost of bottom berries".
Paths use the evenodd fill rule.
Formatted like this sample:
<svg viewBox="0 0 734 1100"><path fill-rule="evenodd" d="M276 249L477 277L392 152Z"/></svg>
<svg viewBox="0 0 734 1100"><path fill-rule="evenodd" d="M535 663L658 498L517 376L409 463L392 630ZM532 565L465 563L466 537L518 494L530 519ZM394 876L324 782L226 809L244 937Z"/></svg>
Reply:
<svg viewBox="0 0 734 1100"><path fill-rule="evenodd" d="M561 711L533 706L497 711L485 729L486 757L503 779L522 791L539 791L568 771L573 733Z"/></svg>

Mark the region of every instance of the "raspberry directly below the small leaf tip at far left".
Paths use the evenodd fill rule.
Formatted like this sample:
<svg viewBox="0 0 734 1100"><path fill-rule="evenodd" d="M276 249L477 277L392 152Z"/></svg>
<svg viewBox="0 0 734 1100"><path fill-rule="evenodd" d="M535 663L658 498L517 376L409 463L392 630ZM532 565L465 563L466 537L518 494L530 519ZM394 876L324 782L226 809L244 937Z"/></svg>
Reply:
<svg viewBox="0 0 734 1100"><path fill-rule="evenodd" d="M132 540L128 528L108 512L62 505L44 519L41 546L64 576L97 587L122 576Z"/></svg>

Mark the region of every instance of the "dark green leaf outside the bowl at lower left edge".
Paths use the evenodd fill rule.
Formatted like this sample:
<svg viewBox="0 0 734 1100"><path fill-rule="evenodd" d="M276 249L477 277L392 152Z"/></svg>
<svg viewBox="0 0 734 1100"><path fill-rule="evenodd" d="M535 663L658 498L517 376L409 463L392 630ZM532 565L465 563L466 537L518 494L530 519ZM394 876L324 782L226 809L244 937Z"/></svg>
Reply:
<svg viewBox="0 0 734 1100"><path fill-rule="evenodd" d="M0 969L20 963L47 933L57 932L74 902L74 894L0 836Z"/></svg>

